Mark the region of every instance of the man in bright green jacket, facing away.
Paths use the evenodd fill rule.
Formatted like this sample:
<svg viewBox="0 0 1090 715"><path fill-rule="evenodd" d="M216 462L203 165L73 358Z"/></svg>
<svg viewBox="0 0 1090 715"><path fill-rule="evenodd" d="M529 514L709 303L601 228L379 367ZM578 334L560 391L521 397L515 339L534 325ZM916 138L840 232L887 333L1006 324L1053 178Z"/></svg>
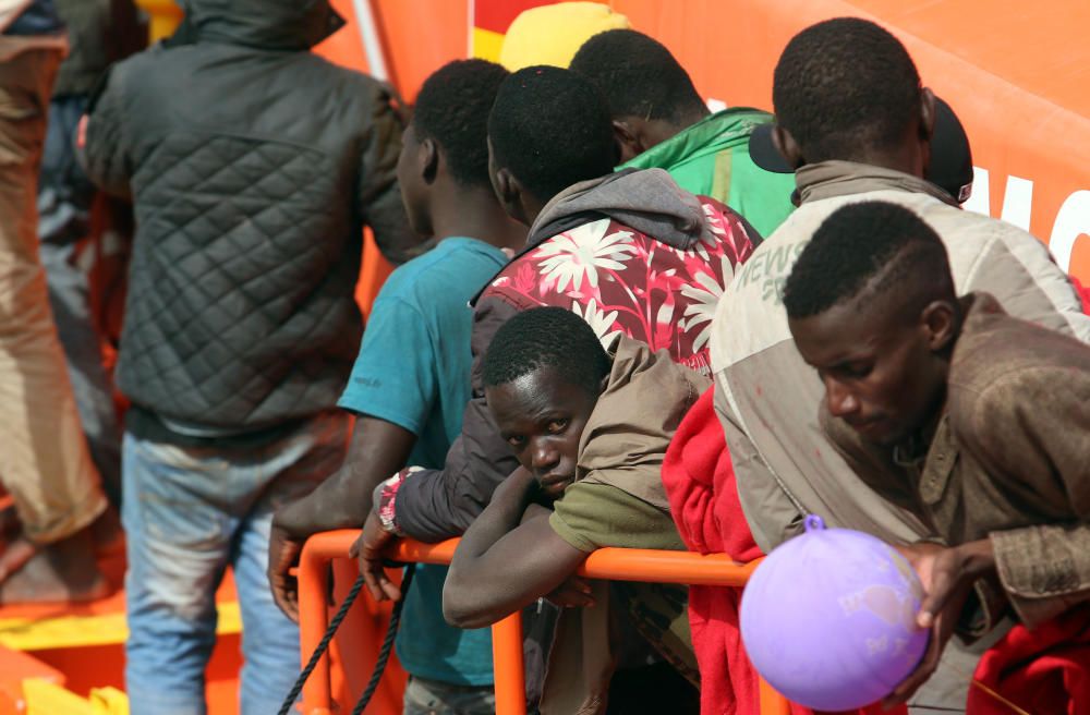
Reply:
<svg viewBox="0 0 1090 715"><path fill-rule="evenodd" d="M759 109L712 114L670 51L632 29L595 35L571 69L594 82L609 101L621 148L618 169L665 169L694 194L735 209L761 235L795 209L795 174L761 169L749 155L753 128L772 121Z"/></svg>

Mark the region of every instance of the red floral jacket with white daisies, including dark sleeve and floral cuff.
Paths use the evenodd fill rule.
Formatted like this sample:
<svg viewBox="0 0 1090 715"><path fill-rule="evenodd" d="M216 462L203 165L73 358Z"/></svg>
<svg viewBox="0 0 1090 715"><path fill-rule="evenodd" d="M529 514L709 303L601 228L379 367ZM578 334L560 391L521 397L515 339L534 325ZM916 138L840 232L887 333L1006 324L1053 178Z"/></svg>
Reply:
<svg viewBox="0 0 1090 715"><path fill-rule="evenodd" d="M712 317L753 243L737 214L715 199L699 201L708 230L689 250L601 218L528 247L491 281L474 307L474 398L467 404L462 434L441 470L411 475L402 470L376 489L387 531L427 542L459 535L518 466L488 412L480 362L499 327L521 311L570 310L603 344L621 332L710 375Z"/></svg>

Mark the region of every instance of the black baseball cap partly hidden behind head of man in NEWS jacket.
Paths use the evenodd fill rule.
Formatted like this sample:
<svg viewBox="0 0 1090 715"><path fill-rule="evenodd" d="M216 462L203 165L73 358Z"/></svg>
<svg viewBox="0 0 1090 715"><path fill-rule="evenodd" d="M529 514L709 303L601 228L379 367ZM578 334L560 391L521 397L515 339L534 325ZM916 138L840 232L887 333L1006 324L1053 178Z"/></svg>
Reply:
<svg viewBox="0 0 1090 715"><path fill-rule="evenodd" d="M795 173L772 143L773 124L761 124L750 134L750 158L765 171ZM972 150L969 137L954 109L935 97L935 131L931 136L928 181L964 204L972 194Z"/></svg>

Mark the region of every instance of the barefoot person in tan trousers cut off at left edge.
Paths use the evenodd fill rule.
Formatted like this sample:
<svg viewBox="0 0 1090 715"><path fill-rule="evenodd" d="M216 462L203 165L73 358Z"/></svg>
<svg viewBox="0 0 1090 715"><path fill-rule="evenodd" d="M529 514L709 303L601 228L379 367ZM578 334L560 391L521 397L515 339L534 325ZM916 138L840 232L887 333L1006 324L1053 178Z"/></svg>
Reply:
<svg viewBox="0 0 1090 715"><path fill-rule="evenodd" d="M0 554L0 603L106 589L86 531L106 498L38 259L38 167L64 48L51 2L0 0L0 483L22 525Z"/></svg>

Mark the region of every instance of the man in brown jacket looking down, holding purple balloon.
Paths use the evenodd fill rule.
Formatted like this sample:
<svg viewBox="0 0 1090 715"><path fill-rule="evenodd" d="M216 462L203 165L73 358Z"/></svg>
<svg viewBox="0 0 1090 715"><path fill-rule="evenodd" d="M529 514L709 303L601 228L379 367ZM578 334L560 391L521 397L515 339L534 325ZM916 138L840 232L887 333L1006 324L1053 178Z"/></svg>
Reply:
<svg viewBox="0 0 1090 715"><path fill-rule="evenodd" d="M958 295L935 231L883 202L818 228L784 306L824 386L822 428L871 489L935 535L900 547L924 586L917 625L931 643L885 704L932 675L955 632L980 638L1009 614L1019 626L998 657L1063 653L1067 677L996 674L985 656L970 712L1074 712L1065 705L1090 696L1087 658L1071 655L1090 647L1077 642L1090 629L1090 347L986 292Z"/></svg>

